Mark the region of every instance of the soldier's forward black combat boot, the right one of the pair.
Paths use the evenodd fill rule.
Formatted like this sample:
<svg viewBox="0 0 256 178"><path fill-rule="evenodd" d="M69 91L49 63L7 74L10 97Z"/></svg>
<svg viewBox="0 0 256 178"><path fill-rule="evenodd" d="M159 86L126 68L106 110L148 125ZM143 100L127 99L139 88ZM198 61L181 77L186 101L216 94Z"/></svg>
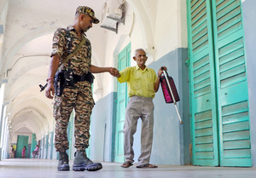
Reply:
<svg viewBox="0 0 256 178"><path fill-rule="evenodd" d="M75 158L73 160L73 170L75 171L94 171L102 169L102 164L93 163L90 161L90 158L87 158L84 150L80 150L79 152L75 152Z"/></svg>

